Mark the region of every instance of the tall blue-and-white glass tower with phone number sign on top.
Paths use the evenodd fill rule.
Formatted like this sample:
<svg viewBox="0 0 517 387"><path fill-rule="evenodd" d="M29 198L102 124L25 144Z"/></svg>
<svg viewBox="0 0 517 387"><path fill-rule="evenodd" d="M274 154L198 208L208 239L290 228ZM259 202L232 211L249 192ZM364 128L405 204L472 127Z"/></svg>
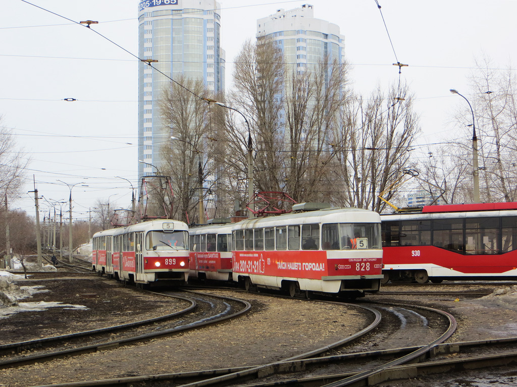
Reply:
<svg viewBox="0 0 517 387"><path fill-rule="evenodd" d="M139 57L172 79L202 79L210 91L224 90L220 5L215 0L144 0L139 3ZM162 128L158 100L171 80L146 63L139 67L139 160L160 168ZM155 169L139 163L139 178Z"/></svg>

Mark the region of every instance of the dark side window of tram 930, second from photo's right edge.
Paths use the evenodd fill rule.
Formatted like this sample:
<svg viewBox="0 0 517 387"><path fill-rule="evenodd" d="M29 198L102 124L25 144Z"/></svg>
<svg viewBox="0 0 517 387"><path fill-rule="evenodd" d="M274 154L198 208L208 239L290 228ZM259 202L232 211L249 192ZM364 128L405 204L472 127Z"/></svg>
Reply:
<svg viewBox="0 0 517 387"><path fill-rule="evenodd" d="M465 220L465 254L498 254L499 218Z"/></svg>

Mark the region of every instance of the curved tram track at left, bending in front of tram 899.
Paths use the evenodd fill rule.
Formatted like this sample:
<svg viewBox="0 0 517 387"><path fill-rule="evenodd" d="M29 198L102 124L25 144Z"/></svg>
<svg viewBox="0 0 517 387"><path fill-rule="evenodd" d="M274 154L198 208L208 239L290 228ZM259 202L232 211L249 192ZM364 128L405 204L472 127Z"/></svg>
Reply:
<svg viewBox="0 0 517 387"><path fill-rule="evenodd" d="M170 292L169 292L170 293ZM226 321L232 318L235 318L237 316L240 316L244 313L247 313L251 305L244 300L238 300L234 298L229 297L223 297L223 296L207 296L207 295L201 295L198 294L196 296L190 295L190 297L185 296L179 296L179 295L170 295L166 293L161 293L168 297L175 297L181 300L189 301L191 303L190 306L187 308L184 308L182 311L179 311L174 314L166 315L166 316L160 316L154 319L148 319L148 320L142 320L138 322L128 323L128 324L121 324L119 326L113 326L108 328L103 328L99 330L92 330L92 331L84 331L79 332L75 334L67 334L62 336L54 336L54 337L48 337L48 338L42 338L37 340L29 340L27 342L20 342L20 343L10 343L6 345L0 346L0 351L5 352L16 352L19 350L27 349L27 348L38 348L42 347L44 345L49 345L50 343L54 343L54 345L57 343L63 343L63 345L68 346L70 344L71 339L77 339L77 338L84 338L84 337L90 337L93 335L98 334L106 334L114 331L123 331L125 329L133 329L133 328L141 328L144 326L149 326L149 324L153 323L160 323L162 324L164 320L167 319L173 319L177 318L178 316L186 315L189 312L192 312L197 305L199 305L199 301L203 298L206 300L211 299L219 299L222 300L222 303L225 304L224 311L218 311L218 313L214 316L207 315L206 311L201 312L199 315L191 318L191 320L181 320L173 324L172 328L165 328L165 329L159 329L153 332L147 332L147 333L139 333L133 336L117 339L117 340L104 340L101 343L96 343L93 345L78 345L75 348L70 349L58 349L54 350L52 352L48 353L37 353L32 354L28 356L18 356L17 358L10 359L7 361L1 361L0 362L0 369L2 368L11 368L11 367L18 367L21 365L26 364L34 364L34 363L41 363L41 362L48 362L53 359L58 358L65 358L70 356L76 356L83 353L90 353L90 352L97 352L102 350L108 350L112 348L118 348L124 345L144 342L146 340L159 338L163 336L173 335L180 332L185 332L188 330L193 329L199 329L201 327L210 325L210 324L217 324L222 321ZM208 304L211 303L211 301L206 301ZM233 305L230 305L232 303ZM240 308L236 307L236 305L240 305ZM150 329L150 328L149 328Z"/></svg>

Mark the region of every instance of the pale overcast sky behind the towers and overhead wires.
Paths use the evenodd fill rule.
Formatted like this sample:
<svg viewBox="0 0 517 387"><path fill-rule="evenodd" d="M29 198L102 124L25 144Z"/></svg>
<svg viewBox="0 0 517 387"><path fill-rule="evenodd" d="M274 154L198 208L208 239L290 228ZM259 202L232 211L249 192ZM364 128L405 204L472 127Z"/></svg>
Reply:
<svg viewBox="0 0 517 387"><path fill-rule="evenodd" d="M31 3L74 21L99 21L93 28L138 54L137 0ZM469 98L468 76L476 58L489 56L494 68L504 68L516 56L517 1L512 0L378 0L394 52L375 0L220 3L227 88L242 43L255 38L256 19L311 4L315 18L340 26L357 92L368 96L377 86L387 88L399 79L392 64L409 65L401 79L416 94L420 145L438 142L453 130L458 137L472 137L469 128L450 122L465 101L449 89ZM3 2L0 42L3 126L13 129L17 144L32 158L27 185L11 208L34 212L27 195L33 175L39 193L54 200L69 196L57 179L79 183L72 197L74 212L83 214L74 218L87 218L98 198L110 197L112 208L127 208L130 185L115 176L138 186L138 61L91 30L21 0ZM427 151L417 147L414 155L425 157Z"/></svg>

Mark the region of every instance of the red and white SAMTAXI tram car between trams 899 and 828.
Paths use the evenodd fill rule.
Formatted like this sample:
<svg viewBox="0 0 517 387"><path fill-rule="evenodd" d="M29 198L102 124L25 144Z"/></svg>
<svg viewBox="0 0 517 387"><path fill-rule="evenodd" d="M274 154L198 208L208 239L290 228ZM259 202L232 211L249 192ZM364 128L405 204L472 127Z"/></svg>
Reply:
<svg viewBox="0 0 517 387"><path fill-rule="evenodd" d="M233 224L212 224L189 229L190 277L232 280L232 227Z"/></svg>

